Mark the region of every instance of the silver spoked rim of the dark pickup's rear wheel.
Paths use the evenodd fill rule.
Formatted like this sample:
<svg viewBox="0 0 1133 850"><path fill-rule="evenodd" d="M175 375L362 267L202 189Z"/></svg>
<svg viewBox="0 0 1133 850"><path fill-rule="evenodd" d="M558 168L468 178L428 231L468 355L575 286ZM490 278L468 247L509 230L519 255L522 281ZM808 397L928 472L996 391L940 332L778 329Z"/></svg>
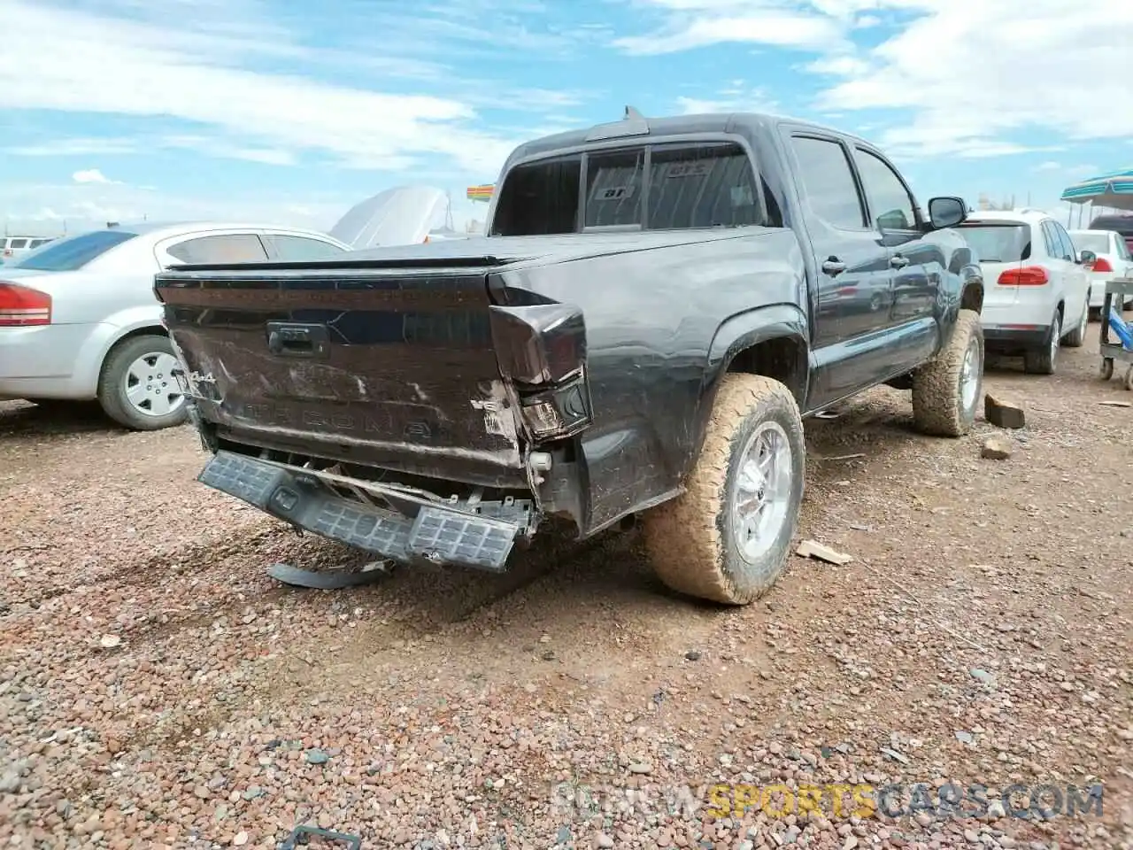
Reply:
<svg viewBox="0 0 1133 850"><path fill-rule="evenodd" d="M786 432L765 422L748 439L732 488L732 528L748 563L775 545L791 504L792 453Z"/></svg>

